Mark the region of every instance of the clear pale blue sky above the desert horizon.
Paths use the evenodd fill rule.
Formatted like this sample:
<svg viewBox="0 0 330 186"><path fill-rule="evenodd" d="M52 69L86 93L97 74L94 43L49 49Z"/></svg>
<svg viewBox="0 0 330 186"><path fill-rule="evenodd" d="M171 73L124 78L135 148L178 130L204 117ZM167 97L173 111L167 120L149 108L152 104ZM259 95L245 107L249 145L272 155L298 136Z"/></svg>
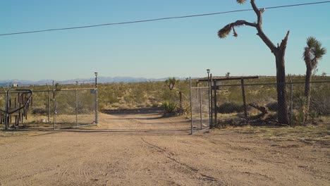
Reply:
<svg viewBox="0 0 330 186"><path fill-rule="evenodd" d="M259 8L317 0L256 0ZM321 0L320 0L321 1ZM187 16L251 8L235 0L0 0L0 34ZM269 9L264 32L276 44L291 30L286 73L305 74L302 51L309 36L329 51L319 74L330 73L330 4ZM101 76L202 77L275 75L275 59L252 27L238 37L219 39L216 32L236 20L254 22L255 13L161 20L0 37L0 80L67 80Z"/></svg>

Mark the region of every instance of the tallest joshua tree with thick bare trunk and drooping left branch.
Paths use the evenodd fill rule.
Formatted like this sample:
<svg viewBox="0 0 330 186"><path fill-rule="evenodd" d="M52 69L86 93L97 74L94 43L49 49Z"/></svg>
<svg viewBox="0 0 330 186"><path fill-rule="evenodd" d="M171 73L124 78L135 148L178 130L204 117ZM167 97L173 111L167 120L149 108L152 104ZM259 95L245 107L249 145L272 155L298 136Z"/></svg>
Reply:
<svg viewBox="0 0 330 186"><path fill-rule="evenodd" d="M244 4L246 0L236 0L238 4ZM288 103L286 101L286 70L285 70L285 61L284 56L286 54L286 44L288 42L288 35L290 31L286 33L286 37L281 41L281 44L275 44L264 34L262 30L262 13L265 9L257 8L255 0L251 0L251 5L255 13L257 14L257 22L250 23L245 20L236 20L234 23L230 23L223 27L218 32L218 36L222 39L227 37L231 30L233 30L233 36L237 37L238 34L235 30L236 27L247 25L250 27L255 27L257 29L257 35L262 39L264 44L266 44L271 53L274 54L276 59L276 82L277 82L277 101L278 101L278 113L279 113L279 123L288 124Z"/></svg>

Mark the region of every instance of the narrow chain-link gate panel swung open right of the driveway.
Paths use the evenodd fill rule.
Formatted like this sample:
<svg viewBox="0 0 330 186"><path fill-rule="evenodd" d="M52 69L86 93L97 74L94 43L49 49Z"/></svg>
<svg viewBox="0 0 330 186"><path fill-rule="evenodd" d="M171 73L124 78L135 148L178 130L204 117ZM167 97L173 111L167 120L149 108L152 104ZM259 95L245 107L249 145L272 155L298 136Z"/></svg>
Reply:
<svg viewBox="0 0 330 186"><path fill-rule="evenodd" d="M190 87L191 132L209 128L209 87Z"/></svg>

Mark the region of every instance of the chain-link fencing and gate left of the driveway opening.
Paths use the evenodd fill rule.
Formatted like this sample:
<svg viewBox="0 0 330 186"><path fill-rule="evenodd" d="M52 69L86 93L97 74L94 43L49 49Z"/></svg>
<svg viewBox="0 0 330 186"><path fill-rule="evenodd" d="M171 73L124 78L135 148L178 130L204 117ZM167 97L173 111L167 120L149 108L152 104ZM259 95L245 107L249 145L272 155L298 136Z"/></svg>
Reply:
<svg viewBox="0 0 330 186"><path fill-rule="evenodd" d="M0 93L0 109L5 111L6 93ZM11 96L15 99L15 95ZM11 117L15 115L12 114ZM0 112L4 124L4 112ZM13 124L14 120L11 120ZM32 91L32 104L20 127L28 129L73 128L97 123L97 89Z"/></svg>

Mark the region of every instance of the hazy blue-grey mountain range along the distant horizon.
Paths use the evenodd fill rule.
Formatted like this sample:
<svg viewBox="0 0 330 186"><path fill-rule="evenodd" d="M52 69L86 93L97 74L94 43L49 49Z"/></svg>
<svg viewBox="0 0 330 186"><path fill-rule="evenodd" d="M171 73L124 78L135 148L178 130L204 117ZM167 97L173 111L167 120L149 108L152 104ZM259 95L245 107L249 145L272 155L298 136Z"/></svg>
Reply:
<svg viewBox="0 0 330 186"><path fill-rule="evenodd" d="M178 80L183 80L184 78L176 77ZM164 81L166 78L145 78L145 77L97 77L98 83L110 83L110 82L148 82L148 81ZM63 80L63 81L55 81L62 85L67 84L75 84L78 82L79 84L84 83L94 83L95 78L88 79L73 79L73 80ZM39 80L39 81L30 81L30 80L0 80L0 86L9 87L16 83L19 87L26 85L51 85L53 80Z"/></svg>

